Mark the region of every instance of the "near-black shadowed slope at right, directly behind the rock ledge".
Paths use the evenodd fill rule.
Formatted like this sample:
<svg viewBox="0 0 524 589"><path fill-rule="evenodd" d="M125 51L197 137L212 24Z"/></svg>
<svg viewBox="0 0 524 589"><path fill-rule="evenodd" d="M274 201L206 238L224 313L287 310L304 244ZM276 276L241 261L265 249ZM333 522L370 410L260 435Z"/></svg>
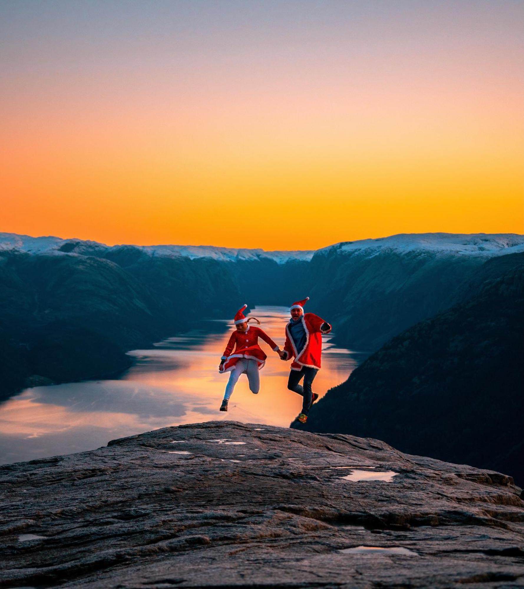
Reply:
<svg viewBox="0 0 524 589"><path fill-rule="evenodd" d="M524 254L489 260L464 292L475 296L394 337L293 427L377 437L524 482Z"/></svg>

